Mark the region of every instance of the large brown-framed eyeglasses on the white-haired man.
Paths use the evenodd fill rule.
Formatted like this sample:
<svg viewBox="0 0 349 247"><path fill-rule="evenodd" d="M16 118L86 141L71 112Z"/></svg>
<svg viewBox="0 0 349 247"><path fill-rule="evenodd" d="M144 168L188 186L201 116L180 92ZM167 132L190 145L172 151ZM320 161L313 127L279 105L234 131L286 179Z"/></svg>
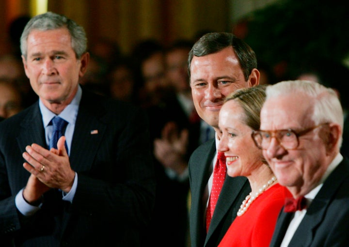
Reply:
<svg viewBox="0 0 349 247"><path fill-rule="evenodd" d="M328 124L328 123L324 123ZM252 131L252 139L254 140L254 144L260 149L268 149L270 145L270 141L273 137L275 137L281 146L285 149L296 149L299 145L299 137L320 127L324 124L319 124L314 127L304 129L302 131L295 131L292 129L281 129L281 130L254 130Z"/></svg>

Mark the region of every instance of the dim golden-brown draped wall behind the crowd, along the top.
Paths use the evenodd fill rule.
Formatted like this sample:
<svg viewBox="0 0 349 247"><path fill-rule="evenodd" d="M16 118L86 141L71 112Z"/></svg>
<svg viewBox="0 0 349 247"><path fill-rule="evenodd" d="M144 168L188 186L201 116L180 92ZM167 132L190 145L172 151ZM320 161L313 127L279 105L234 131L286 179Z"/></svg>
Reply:
<svg viewBox="0 0 349 247"><path fill-rule="evenodd" d="M48 0L48 10L76 20L90 41L117 42L128 52L139 40L169 43L195 38L203 30L231 31L235 19L275 0ZM0 0L0 53L7 50L7 27L20 15L32 15L33 0Z"/></svg>

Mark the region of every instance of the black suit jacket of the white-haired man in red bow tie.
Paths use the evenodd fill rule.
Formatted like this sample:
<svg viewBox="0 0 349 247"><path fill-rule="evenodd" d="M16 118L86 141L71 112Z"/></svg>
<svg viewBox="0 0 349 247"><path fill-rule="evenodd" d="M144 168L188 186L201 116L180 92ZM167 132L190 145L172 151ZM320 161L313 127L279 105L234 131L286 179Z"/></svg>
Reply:
<svg viewBox="0 0 349 247"><path fill-rule="evenodd" d="M280 211L270 247L280 246L292 215ZM309 205L288 247L347 247L348 229L349 161L344 159Z"/></svg>

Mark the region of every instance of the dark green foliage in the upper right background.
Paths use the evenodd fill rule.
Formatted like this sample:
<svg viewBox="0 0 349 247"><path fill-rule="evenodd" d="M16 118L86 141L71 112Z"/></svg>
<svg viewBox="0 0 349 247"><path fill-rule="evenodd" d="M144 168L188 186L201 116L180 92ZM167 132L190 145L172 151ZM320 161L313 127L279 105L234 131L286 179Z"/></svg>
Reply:
<svg viewBox="0 0 349 247"><path fill-rule="evenodd" d="M343 61L349 54L349 11L344 0L280 0L248 16L245 41L257 58L289 66L314 58Z"/></svg>

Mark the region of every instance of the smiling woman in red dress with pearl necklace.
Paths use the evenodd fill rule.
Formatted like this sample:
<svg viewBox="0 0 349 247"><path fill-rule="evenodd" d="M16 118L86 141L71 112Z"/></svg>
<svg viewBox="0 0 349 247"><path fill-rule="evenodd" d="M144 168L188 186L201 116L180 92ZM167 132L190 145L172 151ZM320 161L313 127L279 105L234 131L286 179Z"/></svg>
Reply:
<svg viewBox="0 0 349 247"><path fill-rule="evenodd" d="M265 87L236 91L226 98L219 113L222 135L218 151L226 156L227 174L246 176L252 188L219 247L269 247L277 216L285 198L291 197L278 184L251 137L253 130L259 129Z"/></svg>

